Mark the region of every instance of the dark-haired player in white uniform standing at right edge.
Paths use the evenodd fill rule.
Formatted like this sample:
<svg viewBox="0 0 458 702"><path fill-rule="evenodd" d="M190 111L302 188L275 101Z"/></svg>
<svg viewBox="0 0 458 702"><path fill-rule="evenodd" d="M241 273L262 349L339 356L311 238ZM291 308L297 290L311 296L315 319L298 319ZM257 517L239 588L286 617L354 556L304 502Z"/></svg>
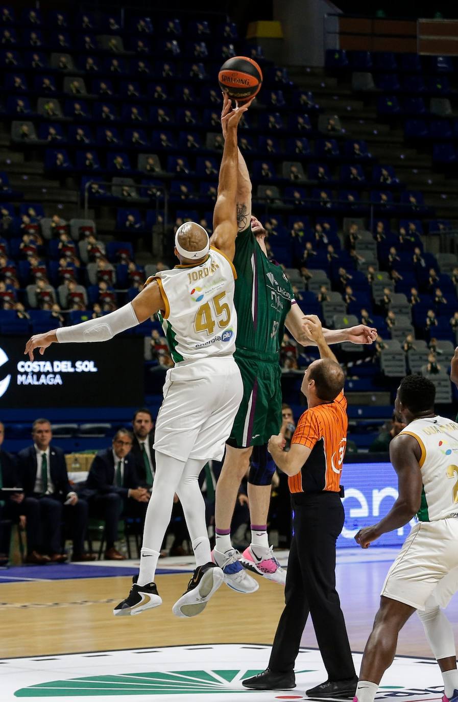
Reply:
<svg viewBox="0 0 458 702"><path fill-rule="evenodd" d="M453 630L440 609L458 591L458 424L434 413L435 395L428 378L407 376L400 383L395 410L407 426L390 444L399 496L386 517L355 536L368 548L417 515L382 588L355 702L374 701L398 633L415 610L443 676L443 702L458 702Z"/></svg>

